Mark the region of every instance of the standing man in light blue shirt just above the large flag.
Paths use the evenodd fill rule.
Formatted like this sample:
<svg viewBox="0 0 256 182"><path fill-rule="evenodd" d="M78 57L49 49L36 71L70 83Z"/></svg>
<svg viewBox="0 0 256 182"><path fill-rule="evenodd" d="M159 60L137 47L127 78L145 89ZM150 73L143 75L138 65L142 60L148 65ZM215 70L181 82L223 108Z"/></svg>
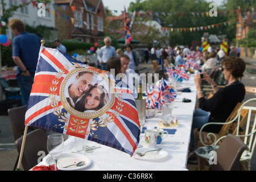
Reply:
<svg viewBox="0 0 256 182"><path fill-rule="evenodd" d="M109 60L110 57L117 56L115 48L113 46L110 46L111 38L109 36L106 36L106 38L104 39L104 43L105 46L101 48L97 56L99 64L101 64L102 70L106 70L107 60Z"/></svg>

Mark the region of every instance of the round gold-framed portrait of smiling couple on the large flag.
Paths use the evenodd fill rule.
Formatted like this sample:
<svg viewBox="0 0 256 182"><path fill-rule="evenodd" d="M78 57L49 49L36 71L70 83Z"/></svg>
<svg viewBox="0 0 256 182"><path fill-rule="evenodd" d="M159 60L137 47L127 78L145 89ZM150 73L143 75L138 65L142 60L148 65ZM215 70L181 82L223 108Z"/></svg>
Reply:
<svg viewBox="0 0 256 182"><path fill-rule="evenodd" d="M96 118L114 103L114 88L109 78L93 69L76 68L63 80L61 102L70 114Z"/></svg>

